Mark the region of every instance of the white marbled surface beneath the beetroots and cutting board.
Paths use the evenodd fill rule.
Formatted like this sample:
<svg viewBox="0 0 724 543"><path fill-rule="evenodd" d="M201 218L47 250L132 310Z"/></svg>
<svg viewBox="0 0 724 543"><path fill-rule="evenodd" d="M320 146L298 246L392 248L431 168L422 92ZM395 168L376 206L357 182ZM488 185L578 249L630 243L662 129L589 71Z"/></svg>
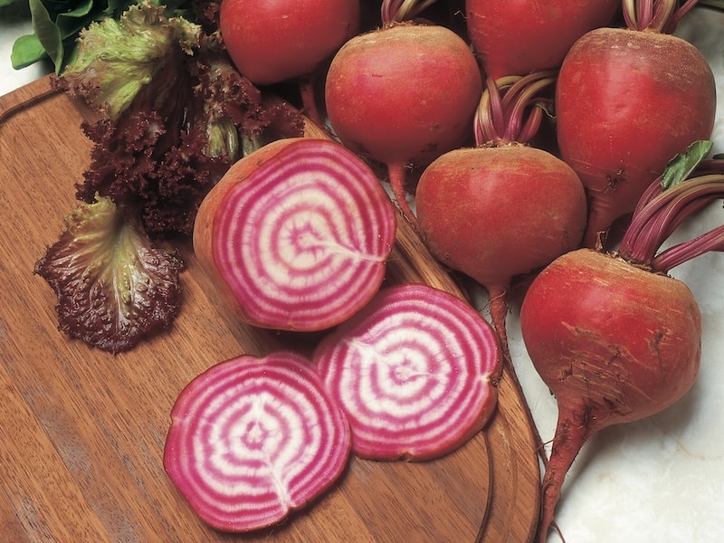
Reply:
<svg viewBox="0 0 724 543"><path fill-rule="evenodd" d="M49 63L13 70L12 44L24 33L30 33L24 17L0 11L0 95L52 71ZM717 76L719 113L712 138L714 151L724 152L724 14L696 8L677 34L704 53ZM719 202L685 224L672 242L722 222ZM586 443L568 473L557 509L567 543L724 541L724 253L702 256L672 275L690 286L700 304L699 379L691 393L666 412L608 428ZM557 408L520 340L519 307L511 308L508 328L521 384L548 441Z"/></svg>

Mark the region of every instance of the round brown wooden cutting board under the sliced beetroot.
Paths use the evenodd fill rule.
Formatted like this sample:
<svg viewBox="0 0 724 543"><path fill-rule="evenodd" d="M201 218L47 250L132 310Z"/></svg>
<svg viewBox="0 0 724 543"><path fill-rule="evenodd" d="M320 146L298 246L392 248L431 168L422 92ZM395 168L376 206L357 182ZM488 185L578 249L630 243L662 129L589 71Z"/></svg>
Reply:
<svg viewBox="0 0 724 543"><path fill-rule="evenodd" d="M283 346L218 307L190 246L184 308L162 336L112 356L57 330L34 263L62 232L89 164L81 110L43 79L0 97L0 532L6 541L529 541L539 467L523 396L504 374L491 424L433 462L352 459L333 490L281 526L205 526L161 463L176 395L206 368ZM400 223L404 223L400 221ZM403 224L387 281L460 294ZM481 528L482 527L482 528Z"/></svg>

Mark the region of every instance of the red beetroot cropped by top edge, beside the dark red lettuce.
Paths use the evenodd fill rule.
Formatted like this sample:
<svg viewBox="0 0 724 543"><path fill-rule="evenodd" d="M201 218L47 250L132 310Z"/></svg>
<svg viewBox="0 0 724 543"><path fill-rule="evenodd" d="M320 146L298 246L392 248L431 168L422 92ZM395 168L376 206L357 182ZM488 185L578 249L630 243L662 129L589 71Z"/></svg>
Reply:
<svg viewBox="0 0 724 543"><path fill-rule="evenodd" d="M359 0L223 0L219 29L236 68L257 85L300 81L319 122L319 66L359 32Z"/></svg>

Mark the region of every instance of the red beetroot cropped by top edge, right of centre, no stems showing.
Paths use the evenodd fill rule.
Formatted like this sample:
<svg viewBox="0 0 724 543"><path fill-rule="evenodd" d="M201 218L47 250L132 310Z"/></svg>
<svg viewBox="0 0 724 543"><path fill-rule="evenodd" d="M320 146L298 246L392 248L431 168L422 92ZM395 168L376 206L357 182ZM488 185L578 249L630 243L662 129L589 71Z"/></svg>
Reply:
<svg viewBox="0 0 724 543"><path fill-rule="evenodd" d="M620 0L466 0L472 47L488 77L526 75L560 66L574 42L609 24Z"/></svg>

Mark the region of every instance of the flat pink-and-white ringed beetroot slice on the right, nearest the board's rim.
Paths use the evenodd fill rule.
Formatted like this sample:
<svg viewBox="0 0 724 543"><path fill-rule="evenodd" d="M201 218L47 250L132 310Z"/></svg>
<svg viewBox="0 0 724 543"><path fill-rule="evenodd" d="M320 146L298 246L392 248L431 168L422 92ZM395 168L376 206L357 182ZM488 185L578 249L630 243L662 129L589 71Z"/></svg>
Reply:
<svg viewBox="0 0 724 543"><path fill-rule="evenodd" d="M352 428L352 452L429 460L466 443L497 405L500 346L472 307L433 287L379 291L312 360Z"/></svg>

